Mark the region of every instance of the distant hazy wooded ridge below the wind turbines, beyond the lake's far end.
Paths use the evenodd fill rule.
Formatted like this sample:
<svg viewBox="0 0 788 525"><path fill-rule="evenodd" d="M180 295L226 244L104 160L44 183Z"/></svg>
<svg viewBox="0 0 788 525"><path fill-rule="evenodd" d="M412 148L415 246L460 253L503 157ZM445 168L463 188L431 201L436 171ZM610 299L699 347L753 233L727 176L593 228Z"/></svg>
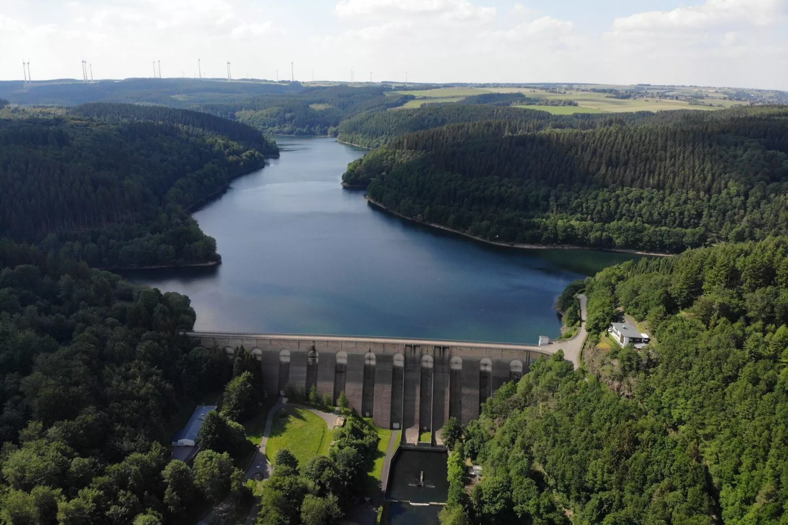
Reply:
<svg viewBox="0 0 788 525"><path fill-rule="evenodd" d="M382 85L309 86L284 81L136 78L95 83L0 82L0 98L23 105L53 106L132 102L197 110L253 125L266 133L327 135L333 134L343 119L367 110L402 106L413 99L412 95L388 96L386 91L390 89ZM93 108L90 113L102 116L106 111ZM171 119L172 114L168 120Z"/></svg>

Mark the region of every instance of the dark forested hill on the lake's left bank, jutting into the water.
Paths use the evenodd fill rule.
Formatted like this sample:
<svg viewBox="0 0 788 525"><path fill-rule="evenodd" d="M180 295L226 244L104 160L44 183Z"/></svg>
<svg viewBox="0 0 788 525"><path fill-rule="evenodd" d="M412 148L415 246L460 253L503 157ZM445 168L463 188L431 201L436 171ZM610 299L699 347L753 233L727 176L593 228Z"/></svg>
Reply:
<svg viewBox="0 0 788 525"><path fill-rule="evenodd" d="M0 236L98 267L218 260L188 215L278 155L260 132L188 110L0 111Z"/></svg>

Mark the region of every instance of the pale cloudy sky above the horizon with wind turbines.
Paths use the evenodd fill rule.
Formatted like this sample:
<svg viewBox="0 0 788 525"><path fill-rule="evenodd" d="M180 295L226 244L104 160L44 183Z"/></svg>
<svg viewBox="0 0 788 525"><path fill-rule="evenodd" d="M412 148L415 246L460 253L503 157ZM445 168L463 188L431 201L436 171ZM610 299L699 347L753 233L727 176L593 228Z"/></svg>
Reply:
<svg viewBox="0 0 788 525"><path fill-rule="evenodd" d="M0 80L226 76L788 90L788 0L2 0Z"/></svg>

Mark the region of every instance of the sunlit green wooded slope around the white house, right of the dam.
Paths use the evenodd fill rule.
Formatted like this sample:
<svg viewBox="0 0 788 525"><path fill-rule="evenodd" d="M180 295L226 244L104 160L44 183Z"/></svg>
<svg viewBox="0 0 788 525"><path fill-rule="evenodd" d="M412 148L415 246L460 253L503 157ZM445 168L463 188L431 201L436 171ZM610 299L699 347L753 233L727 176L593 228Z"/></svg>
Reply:
<svg viewBox="0 0 788 525"><path fill-rule="evenodd" d="M788 240L624 263L585 292L585 367L541 360L486 402L453 452L484 477L450 475L444 525L785 523ZM652 344L608 339L616 307Z"/></svg>

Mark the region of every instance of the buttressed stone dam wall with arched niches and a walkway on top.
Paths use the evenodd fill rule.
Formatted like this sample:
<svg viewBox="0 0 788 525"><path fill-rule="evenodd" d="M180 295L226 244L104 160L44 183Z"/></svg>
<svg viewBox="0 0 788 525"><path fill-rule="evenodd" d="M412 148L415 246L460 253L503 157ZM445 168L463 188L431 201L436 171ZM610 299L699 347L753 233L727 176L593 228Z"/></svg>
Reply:
<svg viewBox="0 0 788 525"><path fill-rule="evenodd" d="M415 443L450 417L463 425L478 418L481 404L504 382L518 380L531 363L556 352L545 346L422 341L384 337L189 332L207 348L232 356L243 345L260 361L269 395L288 385L309 389L336 402L345 393L353 408L377 426L403 429Z"/></svg>

